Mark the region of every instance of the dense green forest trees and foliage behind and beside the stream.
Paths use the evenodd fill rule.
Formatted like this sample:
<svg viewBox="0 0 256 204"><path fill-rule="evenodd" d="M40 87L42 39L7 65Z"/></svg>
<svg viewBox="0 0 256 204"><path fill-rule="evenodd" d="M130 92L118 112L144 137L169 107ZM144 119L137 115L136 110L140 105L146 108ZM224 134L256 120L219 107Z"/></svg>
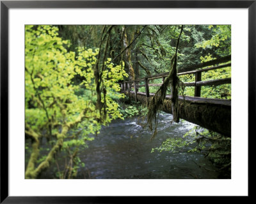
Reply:
<svg viewBox="0 0 256 204"><path fill-rule="evenodd" d="M56 178L76 178L77 169L84 166L79 152L90 145L101 125L147 114L145 107L123 104L125 96L118 82L170 72L180 27L26 26L25 177L37 178L56 165ZM231 54L230 25L185 25L182 29L178 71ZM202 81L227 77L231 77L231 67L205 72ZM192 82L195 76L182 76L180 81ZM150 87L150 93L156 91ZM182 94L193 96L194 88L186 87ZM231 99L231 85L205 86L201 97ZM63 158L65 166L60 166Z"/></svg>

